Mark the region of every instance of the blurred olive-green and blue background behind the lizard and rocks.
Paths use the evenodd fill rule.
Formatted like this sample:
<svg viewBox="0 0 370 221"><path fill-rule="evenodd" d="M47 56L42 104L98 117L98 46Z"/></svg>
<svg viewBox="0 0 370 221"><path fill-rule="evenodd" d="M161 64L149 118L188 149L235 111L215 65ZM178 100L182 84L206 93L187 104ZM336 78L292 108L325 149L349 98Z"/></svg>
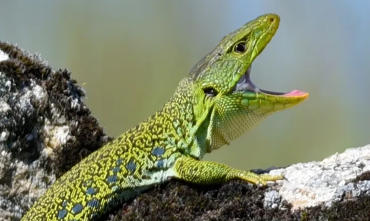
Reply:
<svg viewBox="0 0 370 221"><path fill-rule="evenodd" d="M118 136L160 108L225 34L269 12L281 25L253 62L253 82L310 97L205 160L266 168L369 144L369 1L3 1L0 40L72 71Z"/></svg>

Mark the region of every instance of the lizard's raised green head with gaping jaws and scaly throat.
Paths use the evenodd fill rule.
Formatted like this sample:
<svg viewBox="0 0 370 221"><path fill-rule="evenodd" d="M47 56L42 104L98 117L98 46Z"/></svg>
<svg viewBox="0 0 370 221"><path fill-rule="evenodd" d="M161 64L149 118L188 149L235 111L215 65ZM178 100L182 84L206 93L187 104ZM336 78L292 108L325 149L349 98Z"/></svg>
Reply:
<svg viewBox="0 0 370 221"><path fill-rule="evenodd" d="M194 113L207 152L241 136L266 116L294 106L308 93L262 90L250 79L253 60L265 49L280 17L265 14L226 35L191 70Z"/></svg>

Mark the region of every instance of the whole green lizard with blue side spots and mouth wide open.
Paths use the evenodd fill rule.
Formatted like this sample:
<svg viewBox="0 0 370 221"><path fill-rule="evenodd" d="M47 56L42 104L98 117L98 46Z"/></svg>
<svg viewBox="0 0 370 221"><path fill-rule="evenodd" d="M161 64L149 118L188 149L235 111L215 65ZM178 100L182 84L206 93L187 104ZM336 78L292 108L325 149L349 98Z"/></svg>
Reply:
<svg viewBox="0 0 370 221"><path fill-rule="evenodd" d="M171 178L204 185L233 179L266 185L284 179L200 161L266 116L308 97L298 90L265 91L249 78L252 61L279 23L278 15L265 14L226 35L158 112L63 174L21 220L95 220Z"/></svg>

